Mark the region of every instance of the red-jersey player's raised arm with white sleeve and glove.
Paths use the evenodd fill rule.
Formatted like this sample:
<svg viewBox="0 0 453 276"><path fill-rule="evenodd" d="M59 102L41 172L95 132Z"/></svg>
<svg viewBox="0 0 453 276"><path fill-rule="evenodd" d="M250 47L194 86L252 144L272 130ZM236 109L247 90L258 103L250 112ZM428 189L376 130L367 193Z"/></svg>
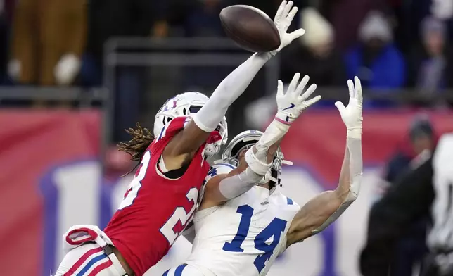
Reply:
<svg viewBox="0 0 453 276"><path fill-rule="evenodd" d="M191 159L193 154L208 139L210 132L215 130L231 103L241 96L262 66L283 47L304 34L305 31L302 29L289 34L286 32L297 11L298 8L293 7L292 1L281 3L274 18L274 23L281 37L279 49L268 53L253 54L219 84L205 106L165 148L163 158L167 169L180 168L181 164L188 158Z"/></svg>

